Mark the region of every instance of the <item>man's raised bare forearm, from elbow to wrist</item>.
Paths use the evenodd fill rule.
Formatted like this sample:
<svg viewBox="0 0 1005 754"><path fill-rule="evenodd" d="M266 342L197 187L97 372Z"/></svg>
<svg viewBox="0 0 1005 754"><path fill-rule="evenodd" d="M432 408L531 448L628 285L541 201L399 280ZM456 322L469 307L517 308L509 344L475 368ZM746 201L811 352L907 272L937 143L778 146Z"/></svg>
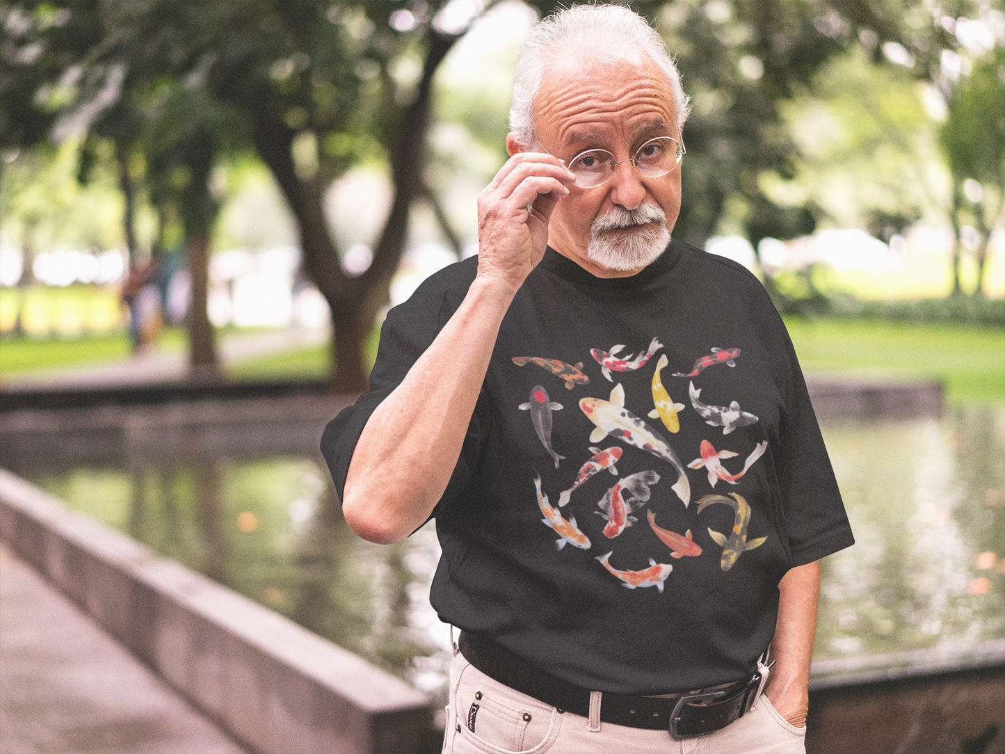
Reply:
<svg viewBox="0 0 1005 754"><path fill-rule="evenodd" d="M512 286L476 279L450 321L367 421L346 476L343 513L388 544L429 518L443 495L484 380Z"/></svg>

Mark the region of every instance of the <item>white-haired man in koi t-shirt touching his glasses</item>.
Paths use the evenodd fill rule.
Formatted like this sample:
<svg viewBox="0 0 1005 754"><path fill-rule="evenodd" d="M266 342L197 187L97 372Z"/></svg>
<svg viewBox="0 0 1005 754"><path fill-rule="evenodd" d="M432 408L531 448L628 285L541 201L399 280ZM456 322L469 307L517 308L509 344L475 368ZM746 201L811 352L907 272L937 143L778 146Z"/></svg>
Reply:
<svg viewBox="0 0 1005 754"><path fill-rule="evenodd" d="M631 11L540 23L477 258L388 314L326 429L357 534L436 519L444 751L804 749L819 559L852 537L760 282L670 240L686 115Z"/></svg>

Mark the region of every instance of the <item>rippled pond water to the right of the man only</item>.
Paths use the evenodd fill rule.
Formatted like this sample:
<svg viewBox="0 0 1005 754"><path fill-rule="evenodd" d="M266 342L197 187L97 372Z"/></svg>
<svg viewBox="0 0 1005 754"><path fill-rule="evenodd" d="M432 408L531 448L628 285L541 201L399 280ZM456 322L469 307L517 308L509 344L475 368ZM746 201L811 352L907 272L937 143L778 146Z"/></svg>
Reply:
<svg viewBox="0 0 1005 754"><path fill-rule="evenodd" d="M824 436L856 545L824 561L814 656L1005 637L1005 406Z"/></svg>

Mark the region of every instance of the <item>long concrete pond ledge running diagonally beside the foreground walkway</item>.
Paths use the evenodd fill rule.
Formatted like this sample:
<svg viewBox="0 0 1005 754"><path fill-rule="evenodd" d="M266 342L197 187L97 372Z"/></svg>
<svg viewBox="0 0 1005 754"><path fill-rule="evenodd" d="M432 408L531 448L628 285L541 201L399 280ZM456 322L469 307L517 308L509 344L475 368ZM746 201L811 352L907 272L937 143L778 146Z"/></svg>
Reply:
<svg viewBox="0 0 1005 754"><path fill-rule="evenodd" d="M0 468L0 539L247 746L415 751L429 698Z"/></svg>

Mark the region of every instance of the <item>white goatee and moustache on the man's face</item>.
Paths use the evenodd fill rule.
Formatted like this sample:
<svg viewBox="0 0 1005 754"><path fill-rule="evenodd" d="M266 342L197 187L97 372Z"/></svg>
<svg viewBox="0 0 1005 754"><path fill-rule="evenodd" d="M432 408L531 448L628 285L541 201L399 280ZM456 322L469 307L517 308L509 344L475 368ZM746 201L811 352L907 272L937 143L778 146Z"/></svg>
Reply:
<svg viewBox="0 0 1005 754"><path fill-rule="evenodd" d="M628 233L606 232L646 223L646 227ZM669 242L666 213L658 205L642 204L636 209L615 207L594 218L586 257L605 269L628 271L654 262Z"/></svg>

